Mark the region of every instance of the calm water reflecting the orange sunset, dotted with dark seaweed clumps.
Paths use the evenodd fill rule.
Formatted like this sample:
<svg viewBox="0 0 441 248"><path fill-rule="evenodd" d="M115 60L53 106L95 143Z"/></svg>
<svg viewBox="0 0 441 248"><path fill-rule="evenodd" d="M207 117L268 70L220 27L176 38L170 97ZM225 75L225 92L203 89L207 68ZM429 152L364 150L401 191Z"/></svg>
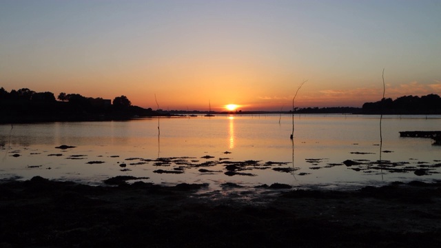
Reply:
<svg viewBox="0 0 441 248"><path fill-rule="evenodd" d="M0 125L0 178L43 176L96 185L127 175L212 188L352 187L441 178L441 146L398 133L441 130L441 116L384 116L382 152L379 118L295 116L294 143L290 115ZM348 159L361 164L348 167L342 163ZM236 165L236 174L225 174L227 165ZM427 175L416 176L416 169L427 169Z"/></svg>

